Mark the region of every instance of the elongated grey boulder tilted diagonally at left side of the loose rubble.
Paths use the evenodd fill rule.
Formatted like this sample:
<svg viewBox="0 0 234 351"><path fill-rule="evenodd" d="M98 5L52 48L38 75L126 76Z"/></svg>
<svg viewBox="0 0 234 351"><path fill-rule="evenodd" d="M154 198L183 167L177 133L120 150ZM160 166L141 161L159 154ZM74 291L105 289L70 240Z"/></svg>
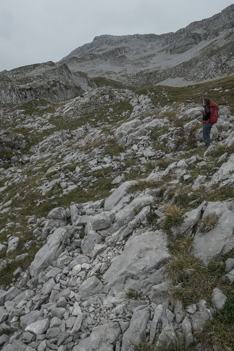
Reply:
<svg viewBox="0 0 234 351"><path fill-rule="evenodd" d="M49 265L56 261L60 253L65 250L69 234L65 228L58 228L47 238L47 243L35 254L35 258L30 266L32 277L37 276Z"/></svg>

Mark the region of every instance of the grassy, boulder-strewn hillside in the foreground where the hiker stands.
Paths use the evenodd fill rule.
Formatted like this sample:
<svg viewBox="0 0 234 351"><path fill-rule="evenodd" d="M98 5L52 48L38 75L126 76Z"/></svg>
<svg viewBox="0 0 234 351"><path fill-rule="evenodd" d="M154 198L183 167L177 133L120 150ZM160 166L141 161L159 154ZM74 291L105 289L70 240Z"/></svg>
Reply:
<svg viewBox="0 0 234 351"><path fill-rule="evenodd" d="M234 117L219 112L206 150L201 106L129 90L2 112L2 350L215 349L234 281Z"/></svg>

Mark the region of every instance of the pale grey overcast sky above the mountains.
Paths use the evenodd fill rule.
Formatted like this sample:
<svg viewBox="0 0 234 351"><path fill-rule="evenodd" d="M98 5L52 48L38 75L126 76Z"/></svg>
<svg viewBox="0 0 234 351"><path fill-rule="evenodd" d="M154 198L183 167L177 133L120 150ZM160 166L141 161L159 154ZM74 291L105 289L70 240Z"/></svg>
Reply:
<svg viewBox="0 0 234 351"><path fill-rule="evenodd" d="M162 34L209 18L228 0L0 0L0 71L57 62L96 35Z"/></svg>

